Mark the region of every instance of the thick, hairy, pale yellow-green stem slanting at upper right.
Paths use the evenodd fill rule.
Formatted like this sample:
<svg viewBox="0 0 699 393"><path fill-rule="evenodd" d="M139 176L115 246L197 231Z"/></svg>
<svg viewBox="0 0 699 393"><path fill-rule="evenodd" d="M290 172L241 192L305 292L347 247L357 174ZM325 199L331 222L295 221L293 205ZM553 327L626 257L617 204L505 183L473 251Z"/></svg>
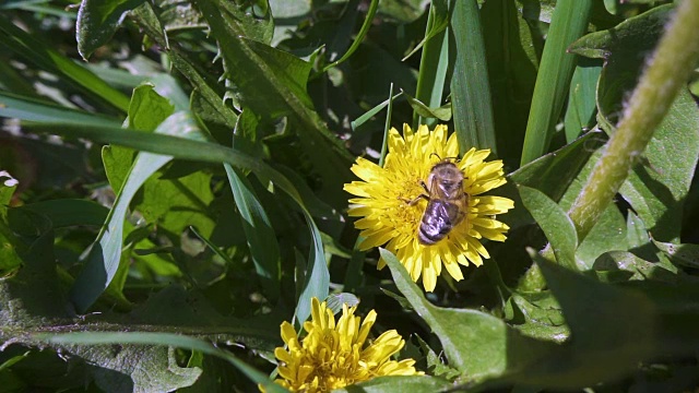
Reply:
<svg viewBox="0 0 699 393"><path fill-rule="evenodd" d="M641 76L616 132L568 211L582 242L626 180L699 61L699 1L683 1Z"/></svg>

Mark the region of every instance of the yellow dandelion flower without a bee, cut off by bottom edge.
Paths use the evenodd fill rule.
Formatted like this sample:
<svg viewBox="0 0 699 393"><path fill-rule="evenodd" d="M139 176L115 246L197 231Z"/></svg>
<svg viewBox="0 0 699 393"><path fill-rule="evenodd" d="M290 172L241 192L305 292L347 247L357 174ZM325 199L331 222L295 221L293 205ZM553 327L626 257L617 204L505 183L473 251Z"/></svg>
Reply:
<svg viewBox="0 0 699 393"><path fill-rule="evenodd" d="M292 392L330 392L353 383L382 376L415 376L415 360L392 360L405 341L394 331L381 334L374 342L367 340L376 321L371 310L364 322L355 317L356 307L342 307L335 318L325 302L311 299L311 320L304 323L307 335L298 340L294 326L282 323L282 340L287 348L274 349L280 360L280 377L274 382ZM264 392L264 389L260 386Z"/></svg>

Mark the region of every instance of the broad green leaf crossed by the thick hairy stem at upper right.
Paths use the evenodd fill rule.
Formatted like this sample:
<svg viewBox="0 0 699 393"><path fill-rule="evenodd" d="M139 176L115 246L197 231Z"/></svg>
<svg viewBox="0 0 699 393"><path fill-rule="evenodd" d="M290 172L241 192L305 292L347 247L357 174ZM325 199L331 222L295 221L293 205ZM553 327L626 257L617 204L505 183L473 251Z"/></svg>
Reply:
<svg viewBox="0 0 699 393"><path fill-rule="evenodd" d="M645 64L645 55L664 32L673 8L654 8L618 26L590 34L571 48L577 53L604 58L597 85L599 120L607 132L621 112L624 102ZM683 90L649 143L643 159L619 190L643 219L653 236L676 242L679 239L684 200L699 156L699 109ZM683 148L676 148L683 141Z"/></svg>

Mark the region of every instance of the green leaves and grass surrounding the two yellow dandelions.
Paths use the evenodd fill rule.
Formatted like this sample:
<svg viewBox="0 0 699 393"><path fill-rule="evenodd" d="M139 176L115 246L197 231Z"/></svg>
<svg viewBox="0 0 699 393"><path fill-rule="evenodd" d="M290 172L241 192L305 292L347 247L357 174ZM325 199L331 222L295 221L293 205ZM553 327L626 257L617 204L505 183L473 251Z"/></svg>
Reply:
<svg viewBox="0 0 699 393"><path fill-rule="evenodd" d="M0 4L0 386L254 391L281 322L329 297L427 374L367 392L696 389L697 39L631 93L676 7ZM387 127L439 122L505 162L516 209L424 294L355 249L342 186ZM611 201L585 183L617 128L649 143Z"/></svg>

